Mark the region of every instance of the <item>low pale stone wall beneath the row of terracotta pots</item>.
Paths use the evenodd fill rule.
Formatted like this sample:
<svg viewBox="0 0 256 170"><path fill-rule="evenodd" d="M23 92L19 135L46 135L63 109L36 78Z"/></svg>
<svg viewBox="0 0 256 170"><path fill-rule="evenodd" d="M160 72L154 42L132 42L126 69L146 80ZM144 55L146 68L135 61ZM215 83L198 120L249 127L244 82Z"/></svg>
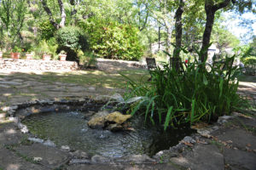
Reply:
<svg viewBox="0 0 256 170"><path fill-rule="evenodd" d="M79 66L74 61L39 59L0 59L0 70L12 71L74 71Z"/></svg>

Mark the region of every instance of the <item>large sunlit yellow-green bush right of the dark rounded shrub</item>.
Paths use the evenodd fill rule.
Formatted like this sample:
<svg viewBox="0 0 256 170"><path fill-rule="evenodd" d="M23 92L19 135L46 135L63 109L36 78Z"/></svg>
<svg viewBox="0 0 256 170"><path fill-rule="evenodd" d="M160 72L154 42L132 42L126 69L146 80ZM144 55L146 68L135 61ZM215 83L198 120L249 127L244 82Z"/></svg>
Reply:
<svg viewBox="0 0 256 170"><path fill-rule="evenodd" d="M139 31L134 26L96 19L80 26L90 37L90 48L98 57L138 60L143 55Z"/></svg>

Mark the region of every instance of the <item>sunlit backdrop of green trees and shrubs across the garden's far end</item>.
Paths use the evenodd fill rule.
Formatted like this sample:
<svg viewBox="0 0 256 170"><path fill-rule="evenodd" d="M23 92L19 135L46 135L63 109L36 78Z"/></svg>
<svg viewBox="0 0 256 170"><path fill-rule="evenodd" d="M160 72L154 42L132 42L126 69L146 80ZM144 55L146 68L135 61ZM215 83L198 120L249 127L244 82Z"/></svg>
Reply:
<svg viewBox="0 0 256 170"><path fill-rule="evenodd" d="M32 50L42 41L55 42L59 29L75 26L89 44L83 51L110 59L137 60L162 49L178 57L178 48L202 51L210 42L223 51L239 46L223 24L227 11L255 14L255 4L253 0L1 0L0 48Z"/></svg>

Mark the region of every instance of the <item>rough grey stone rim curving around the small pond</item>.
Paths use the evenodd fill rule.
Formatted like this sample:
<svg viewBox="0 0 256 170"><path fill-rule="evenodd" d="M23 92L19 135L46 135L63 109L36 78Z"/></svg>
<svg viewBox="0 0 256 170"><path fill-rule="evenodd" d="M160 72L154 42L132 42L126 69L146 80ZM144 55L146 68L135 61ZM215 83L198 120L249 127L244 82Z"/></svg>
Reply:
<svg viewBox="0 0 256 170"><path fill-rule="evenodd" d="M64 108L67 106L83 106L83 105L90 105L90 104L99 104L104 105L106 104L108 99L90 99L90 98L84 98L79 100L37 100L33 102L26 102L26 103L18 103L16 105L11 105L8 107L3 107L3 111L7 111L9 114L9 120L12 122L15 122L18 128L20 128L20 131L22 133L27 133L29 138L28 140L34 142L34 143L40 143L47 145L49 147L55 147L54 142L50 140L44 141L44 139L38 139L36 138L32 133L29 133L29 130L27 129L26 125L23 125L21 123L21 120L24 119L26 116L31 115L25 114L25 115L15 115L15 112L20 109L25 109L26 107L31 107L34 105L65 105ZM55 108L53 108L55 109ZM69 108L67 108L69 109ZM38 111L40 112L40 111ZM236 114L234 116L237 116ZM170 158L177 157L180 153L185 152L189 148L193 147L195 143L198 143L198 141L201 141L201 144L207 144L207 142L204 143L204 139L210 139L211 135L210 133L218 130L218 127L221 126L223 123L227 122L230 118L234 116L221 116L218 118L218 122L213 124L212 126L204 127L204 128L195 128L197 130L197 133L192 134L191 136L184 137L183 140L181 140L177 145L172 146L169 150L161 150L157 154L155 154L152 158L147 155L134 155L134 156L124 156L120 158L106 158L103 156L92 156L89 157L85 152L81 150L70 150L69 146L63 145L61 148L57 148L60 150L67 151L70 155L70 159L68 161L69 165L72 164L124 164L124 163L135 163L135 164L145 164L145 163L154 163L154 162L168 162L170 161Z"/></svg>

